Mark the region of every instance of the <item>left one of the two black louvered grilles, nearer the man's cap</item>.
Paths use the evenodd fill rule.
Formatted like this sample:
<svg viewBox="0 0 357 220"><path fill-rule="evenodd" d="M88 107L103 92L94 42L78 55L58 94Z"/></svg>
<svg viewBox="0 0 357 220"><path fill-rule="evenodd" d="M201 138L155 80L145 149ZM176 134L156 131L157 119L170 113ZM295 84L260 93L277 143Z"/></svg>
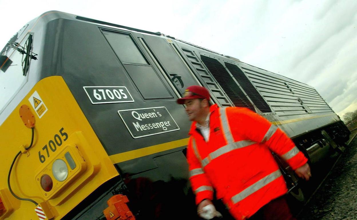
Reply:
<svg viewBox="0 0 357 220"><path fill-rule="evenodd" d="M215 77L216 81L220 84L223 91L231 99L234 106L246 107L252 111L255 111L252 103L248 100L243 91L239 88L237 83L232 79L230 74L220 62L211 57L206 57L202 55L201 60L206 65L208 70L212 73L213 77Z"/></svg>

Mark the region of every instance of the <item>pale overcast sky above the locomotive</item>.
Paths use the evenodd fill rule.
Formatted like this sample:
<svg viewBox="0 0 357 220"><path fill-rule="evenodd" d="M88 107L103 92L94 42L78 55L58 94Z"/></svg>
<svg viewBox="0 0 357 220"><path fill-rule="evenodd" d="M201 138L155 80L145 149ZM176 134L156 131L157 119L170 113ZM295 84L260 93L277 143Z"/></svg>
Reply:
<svg viewBox="0 0 357 220"><path fill-rule="evenodd" d="M59 10L166 35L317 89L341 117L357 109L357 0L0 0L0 47Z"/></svg>

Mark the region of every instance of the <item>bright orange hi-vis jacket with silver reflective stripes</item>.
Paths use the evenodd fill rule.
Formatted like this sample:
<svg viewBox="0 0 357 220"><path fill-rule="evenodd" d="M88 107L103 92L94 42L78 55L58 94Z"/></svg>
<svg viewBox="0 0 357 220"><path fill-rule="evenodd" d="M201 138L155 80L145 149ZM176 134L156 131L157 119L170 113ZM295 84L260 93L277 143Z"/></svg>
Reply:
<svg viewBox="0 0 357 220"><path fill-rule="evenodd" d="M192 123L187 149L189 178L196 204L213 199L213 189L236 219L252 216L287 187L271 151L292 169L307 162L277 126L247 108L210 107L206 142Z"/></svg>

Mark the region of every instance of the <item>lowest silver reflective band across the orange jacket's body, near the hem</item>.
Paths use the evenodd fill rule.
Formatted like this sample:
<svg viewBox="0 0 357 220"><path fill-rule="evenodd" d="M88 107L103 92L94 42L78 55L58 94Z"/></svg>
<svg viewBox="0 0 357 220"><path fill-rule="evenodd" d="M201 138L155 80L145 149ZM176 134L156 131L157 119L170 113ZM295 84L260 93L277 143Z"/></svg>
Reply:
<svg viewBox="0 0 357 220"><path fill-rule="evenodd" d="M245 190L243 190L240 193L238 193L237 195L233 196L232 199L231 199L232 203L236 204L236 203L240 202L241 200L247 198L248 196L250 196L251 194L253 194L256 191L260 190L261 188L263 188L267 184L271 183L273 180L279 178L280 176L281 176L280 170L276 170L275 172L265 176L264 178L258 180L253 185L249 186Z"/></svg>

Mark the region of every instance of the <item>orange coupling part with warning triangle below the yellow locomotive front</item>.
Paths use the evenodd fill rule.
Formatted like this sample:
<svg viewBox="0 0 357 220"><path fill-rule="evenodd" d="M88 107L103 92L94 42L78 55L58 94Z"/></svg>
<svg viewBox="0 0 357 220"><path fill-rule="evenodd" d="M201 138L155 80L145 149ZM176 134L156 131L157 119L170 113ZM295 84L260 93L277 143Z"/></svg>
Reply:
<svg viewBox="0 0 357 220"><path fill-rule="evenodd" d="M126 203L129 199L122 194L112 196L108 201L108 208L103 213L107 220L135 220Z"/></svg>

